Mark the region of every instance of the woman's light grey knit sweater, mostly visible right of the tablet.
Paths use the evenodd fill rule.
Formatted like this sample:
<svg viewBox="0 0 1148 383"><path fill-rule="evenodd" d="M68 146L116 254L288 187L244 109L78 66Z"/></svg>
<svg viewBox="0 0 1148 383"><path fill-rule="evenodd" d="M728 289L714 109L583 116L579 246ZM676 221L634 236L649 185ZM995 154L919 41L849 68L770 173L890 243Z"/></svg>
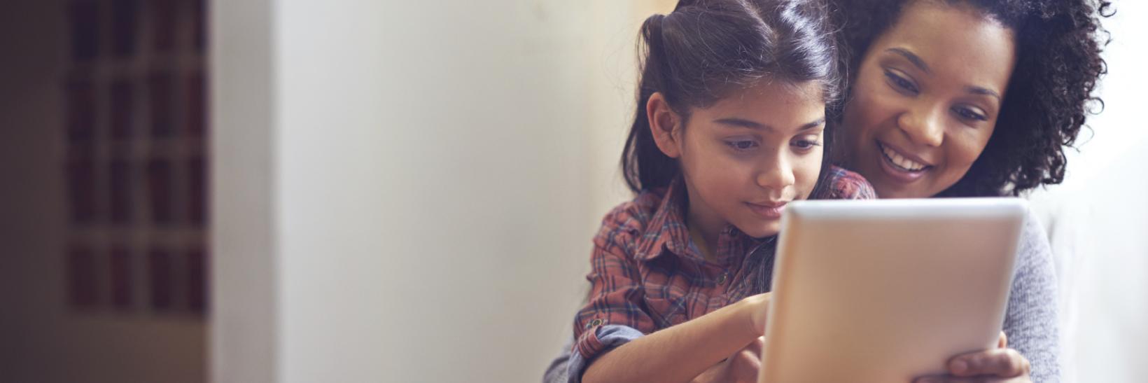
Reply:
<svg viewBox="0 0 1148 383"><path fill-rule="evenodd" d="M1032 364L1031 376L1037 383L1061 381L1056 306L1056 274L1048 236L1040 221L1030 214L1021 233L1003 328L1009 347L1016 349ZM573 338L550 362L542 380L544 383L568 382L572 344Z"/></svg>

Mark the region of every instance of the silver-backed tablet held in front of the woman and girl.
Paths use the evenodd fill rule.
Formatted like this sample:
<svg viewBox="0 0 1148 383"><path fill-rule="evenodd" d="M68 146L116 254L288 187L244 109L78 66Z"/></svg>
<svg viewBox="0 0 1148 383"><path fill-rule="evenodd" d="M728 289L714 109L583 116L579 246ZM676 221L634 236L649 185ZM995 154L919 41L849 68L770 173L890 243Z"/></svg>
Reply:
<svg viewBox="0 0 1148 383"><path fill-rule="evenodd" d="M995 347L1026 217L1018 198L790 203L758 382L912 382Z"/></svg>

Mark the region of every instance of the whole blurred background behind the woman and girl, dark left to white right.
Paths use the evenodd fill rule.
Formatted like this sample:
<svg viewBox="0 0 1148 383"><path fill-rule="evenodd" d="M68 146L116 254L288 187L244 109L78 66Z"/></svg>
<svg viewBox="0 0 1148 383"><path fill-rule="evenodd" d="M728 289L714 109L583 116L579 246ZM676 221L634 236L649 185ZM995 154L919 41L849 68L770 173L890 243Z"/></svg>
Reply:
<svg viewBox="0 0 1148 383"><path fill-rule="evenodd" d="M534 382L675 1L9 0L0 382ZM1072 382L1148 376L1145 6L1030 196Z"/></svg>

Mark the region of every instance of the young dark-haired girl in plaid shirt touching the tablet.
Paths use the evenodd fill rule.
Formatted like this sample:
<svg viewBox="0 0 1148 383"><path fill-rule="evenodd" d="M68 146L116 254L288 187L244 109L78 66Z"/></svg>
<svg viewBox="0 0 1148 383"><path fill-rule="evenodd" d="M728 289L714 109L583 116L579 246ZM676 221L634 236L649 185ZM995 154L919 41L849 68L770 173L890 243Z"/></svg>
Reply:
<svg viewBox="0 0 1148 383"><path fill-rule="evenodd" d="M840 80L828 17L817 1L703 0L642 25L622 154L637 196L594 240L571 381L728 378L720 362L765 330L786 203L874 197L823 155Z"/></svg>

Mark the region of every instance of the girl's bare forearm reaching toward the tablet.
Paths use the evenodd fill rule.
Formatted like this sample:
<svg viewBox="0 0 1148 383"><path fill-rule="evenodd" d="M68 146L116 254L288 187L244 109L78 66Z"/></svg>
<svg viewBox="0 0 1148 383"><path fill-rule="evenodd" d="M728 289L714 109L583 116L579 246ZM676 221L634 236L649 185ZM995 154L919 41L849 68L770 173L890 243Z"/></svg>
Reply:
<svg viewBox="0 0 1148 383"><path fill-rule="evenodd" d="M584 383L689 382L765 333L769 294L626 343L594 360Z"/></svg>

